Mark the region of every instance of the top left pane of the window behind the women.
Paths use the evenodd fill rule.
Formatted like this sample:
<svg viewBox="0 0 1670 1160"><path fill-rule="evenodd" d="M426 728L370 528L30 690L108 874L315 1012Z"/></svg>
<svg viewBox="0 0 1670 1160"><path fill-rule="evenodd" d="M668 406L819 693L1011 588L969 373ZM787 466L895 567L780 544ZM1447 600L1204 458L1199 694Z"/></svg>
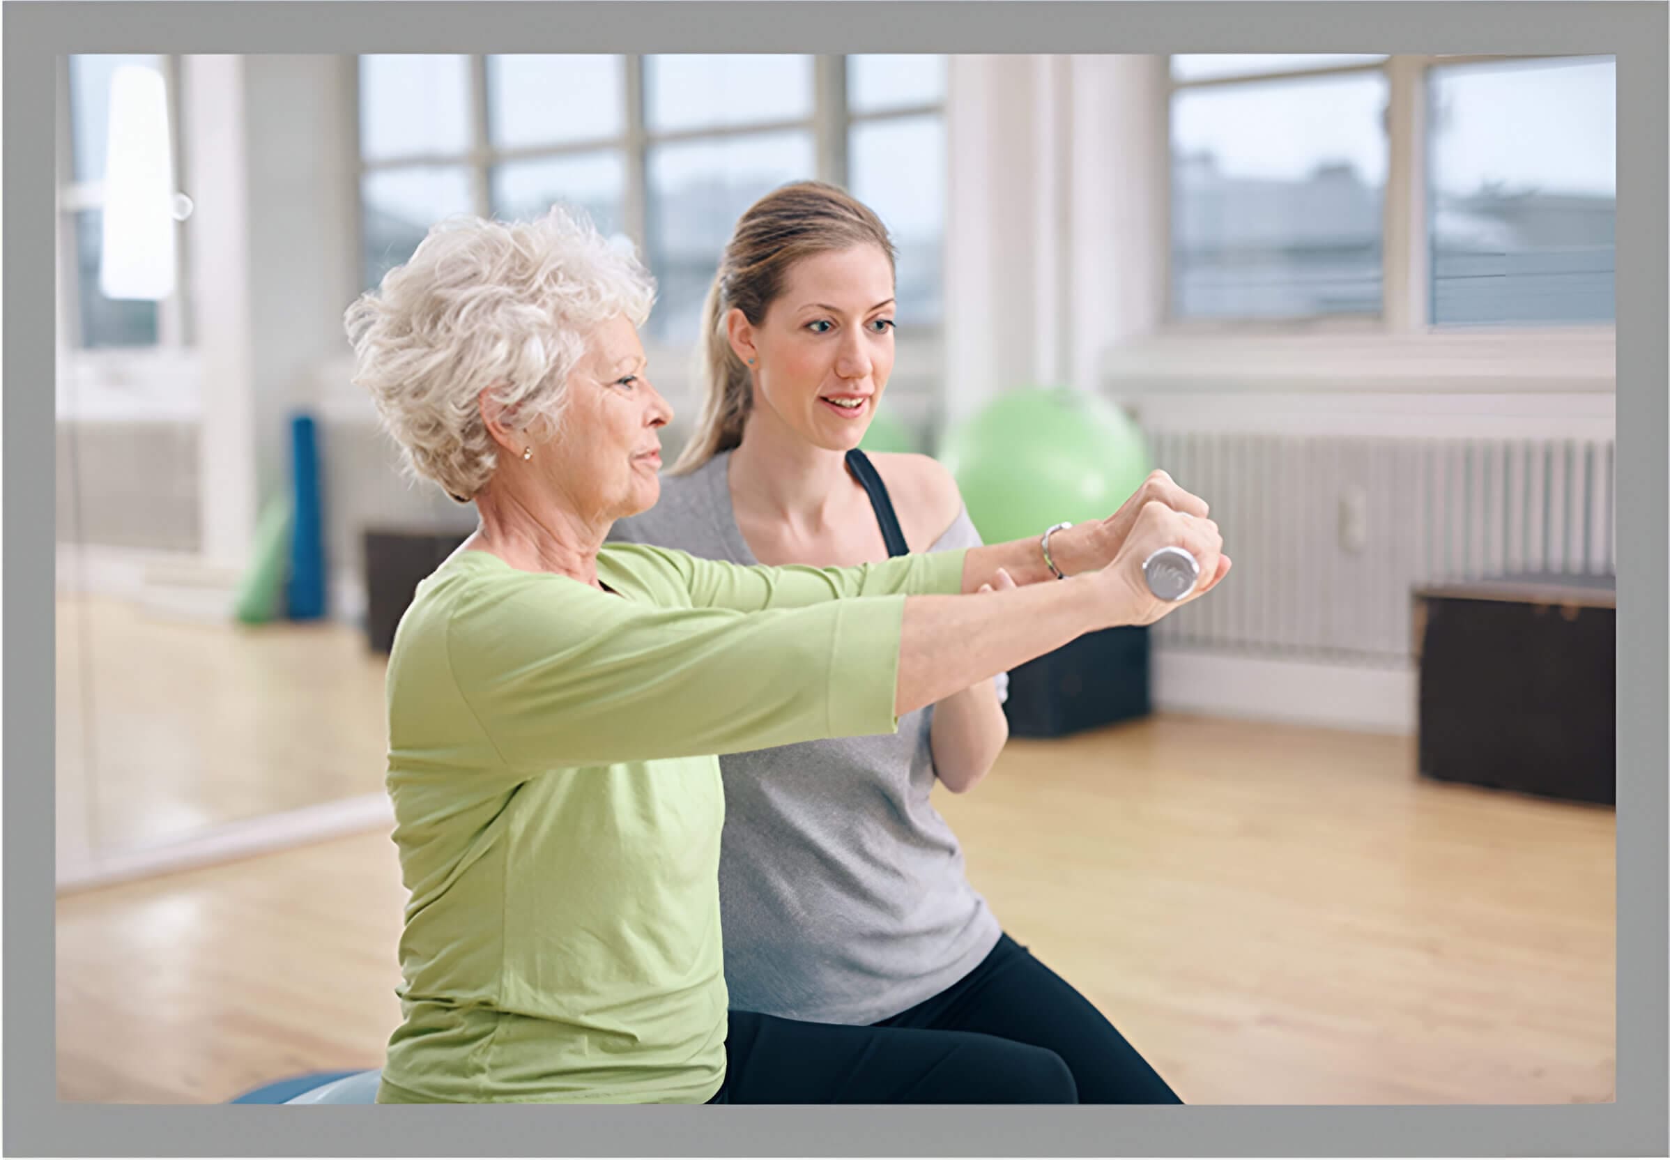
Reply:
<svg viewBox="0 0 1670 1160"><path fill-rule="evenodd" d="M367 160L469 150L469 59L359 59L359 154Z"/></svg>

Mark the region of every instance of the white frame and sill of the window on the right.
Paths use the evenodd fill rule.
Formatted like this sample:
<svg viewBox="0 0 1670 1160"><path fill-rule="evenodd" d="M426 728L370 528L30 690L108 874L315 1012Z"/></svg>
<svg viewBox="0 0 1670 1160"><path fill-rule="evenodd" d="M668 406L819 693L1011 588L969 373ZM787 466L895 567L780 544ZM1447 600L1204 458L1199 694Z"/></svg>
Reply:
<svg viewBox="0 0 1670 1160"><path fill-rule="evenodd" d="M1550 53L1570 55L1570 53ZM1433 65L1536 60L1531 55L1409 55L1304 70L1249 72L1179 82L1169 57L1156 70L1161 155L1154 204L1164 246L1154 284L1161 319L1121 344L1104 376L1136 389L1331 389L1349 379L1391 391L1612 391L1617 326L1436 328L1428 299L1426 75ZM1316 75L1384 72L1388 77L1383 298L1379 316L1303 319L1179 319L1171 296L1171 99L1181 89Z"/></svg>

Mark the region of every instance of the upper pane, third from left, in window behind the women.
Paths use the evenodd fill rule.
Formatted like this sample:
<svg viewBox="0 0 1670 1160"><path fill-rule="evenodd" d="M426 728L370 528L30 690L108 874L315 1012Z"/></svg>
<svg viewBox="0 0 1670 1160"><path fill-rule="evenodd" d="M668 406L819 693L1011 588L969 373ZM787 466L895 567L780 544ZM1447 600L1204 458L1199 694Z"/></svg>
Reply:
<svg viewBox="0 0 1670 1160"><path fill-rule="evenodd" d="M645 57L650 132L812 117L812 57Z"/></svg>

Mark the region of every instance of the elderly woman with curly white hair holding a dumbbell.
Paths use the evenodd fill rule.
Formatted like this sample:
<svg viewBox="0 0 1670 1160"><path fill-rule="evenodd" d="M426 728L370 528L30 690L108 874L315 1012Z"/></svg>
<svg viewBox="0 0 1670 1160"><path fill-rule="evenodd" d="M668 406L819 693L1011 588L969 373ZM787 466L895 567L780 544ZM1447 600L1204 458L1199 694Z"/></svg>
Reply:
<svg viewBox="0 0 1670 1160"><path fill-rule="evenodd" d="M868 735L1117 623L1142 560L1227 568L1217 528L1126 505L1101 567L1009 587L1037 540L853 568L610 545L660 491L651 284L588 224L443 222L347 313L356 383L479 528L387 672L411 891L382 1101L1072 1101L1049 1050L726 1013L716 754ZM980 588L997 588L980 592ZM969 593L969 595L960 595Z"/></svg>

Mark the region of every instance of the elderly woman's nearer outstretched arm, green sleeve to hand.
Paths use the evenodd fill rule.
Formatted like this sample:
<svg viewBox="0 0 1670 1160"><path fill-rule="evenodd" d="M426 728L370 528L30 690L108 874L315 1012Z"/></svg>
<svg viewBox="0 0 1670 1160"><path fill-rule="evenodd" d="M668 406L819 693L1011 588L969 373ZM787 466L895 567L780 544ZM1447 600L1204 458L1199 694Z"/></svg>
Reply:
<svg viewBox="0 0 1670 1160"><path fill-rule="evenodd" d="M620 595L568 577L479 563L474 575L449 582L456 588L448 598L426 605L423 615L441 617L444 627L414 625L412 639L424 640L433 654L421 669L448 672L511 767L768 749L890 732L900 714L1086 632L1159 618L1167 605L1141 588L1141 553L1161 543L1187 547L1207 575L1221 578L1216 532L1156 503L1121 558L1062 583L974 597L855 592L852 598L758 612L695 608L675 607L683 603L676 597L656 598L681 595L683 585L668 573L666 562L690 557L633 548L640 565L660 558L663 567L623 565L616 572L600 557L600 578L613 582ZM775 570L775 592L785 585L862 590L860 572L897 583L920 568L924 588L939 583L940 592L955 593L962 583L960 555L935 553L915 562L900 557L867 565L868 572ZM685 567L700 572L700 563ZM755 573L755 582L772 572ZM738 577L750 570L720 573ZM795 578L785 580L790 575ZM394 664L404 669L399 654L396 640ZM406 704L424 710L421 699ZM421 724L416 729L421 732Z"/></svg>

